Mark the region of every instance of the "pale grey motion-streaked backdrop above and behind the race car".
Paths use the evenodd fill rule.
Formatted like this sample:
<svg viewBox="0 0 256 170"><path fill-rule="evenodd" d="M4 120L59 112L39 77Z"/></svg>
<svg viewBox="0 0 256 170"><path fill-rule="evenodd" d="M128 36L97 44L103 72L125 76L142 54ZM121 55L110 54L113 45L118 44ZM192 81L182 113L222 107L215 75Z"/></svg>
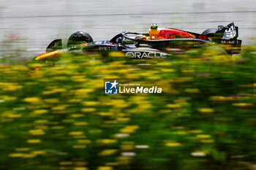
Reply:
<svg viewBox="0 0 256 170"><path fill-rule="evenodd" d="M21 37L16 47L37 54L53 39L67 39L75 31L86 31L96 41L121 31L147 32L151 23L201 33L234 21L248 45L256 33L255 13L254 0L1 0L0 42L3 46L4 40Z"/></svg>

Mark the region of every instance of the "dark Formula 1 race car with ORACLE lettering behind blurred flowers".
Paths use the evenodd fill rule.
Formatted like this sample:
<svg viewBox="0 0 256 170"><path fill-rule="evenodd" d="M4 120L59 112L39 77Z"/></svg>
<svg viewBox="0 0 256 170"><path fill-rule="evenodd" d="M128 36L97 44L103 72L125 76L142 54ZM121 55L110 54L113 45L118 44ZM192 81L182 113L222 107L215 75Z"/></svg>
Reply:
<svg viewBox="0 0 256 170"><path fill-rule="evenodd" d="M167 58L175 53L198 47L218 45L226 54L241 52L241 39L238 38L238 27L234 23L218 28L208 28L202 34L178 30L176 28L158 28L152 24L149 33L122 32L110 41L97 41L83 31L72 34L67 45L56 39L48 45L46 53L38 55L35 60L56 58L61 53L108 53L121 51L130 58Z"/></svg>

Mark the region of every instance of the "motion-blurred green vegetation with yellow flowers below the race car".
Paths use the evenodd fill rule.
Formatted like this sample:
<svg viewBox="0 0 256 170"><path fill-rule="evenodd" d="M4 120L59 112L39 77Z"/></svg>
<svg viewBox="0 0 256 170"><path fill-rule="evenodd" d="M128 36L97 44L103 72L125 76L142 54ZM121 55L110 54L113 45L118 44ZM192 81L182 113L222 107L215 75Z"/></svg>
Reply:
<svg viewBox="0 0 256 170"><path fill-rule="evenodd" d="M252 169L255 51L0 65L0 169ZM104 79L163 93L105 96Z"/></svg>

